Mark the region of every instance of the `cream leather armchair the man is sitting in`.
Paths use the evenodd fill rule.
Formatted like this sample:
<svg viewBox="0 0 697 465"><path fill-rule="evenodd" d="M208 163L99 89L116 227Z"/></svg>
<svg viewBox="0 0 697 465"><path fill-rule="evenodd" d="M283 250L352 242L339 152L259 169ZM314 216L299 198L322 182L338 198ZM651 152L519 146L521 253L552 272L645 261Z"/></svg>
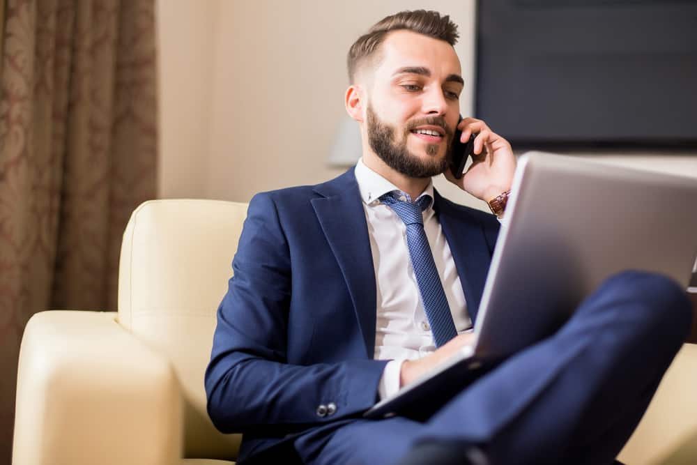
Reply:
<svg viewBox="0 0 697 465"><path fill-rule="evenodd" d="M148 201L123 235L118 312L31 318L17 376L14 465L231 463L214 459L236 457L240 436L220 434L208 419L204 370L246 213L246 204L225 201ZM623 462L664 463L692 441L696 368L697 346L686 344ZM695 454L666 463L694 464Z"/></svg>

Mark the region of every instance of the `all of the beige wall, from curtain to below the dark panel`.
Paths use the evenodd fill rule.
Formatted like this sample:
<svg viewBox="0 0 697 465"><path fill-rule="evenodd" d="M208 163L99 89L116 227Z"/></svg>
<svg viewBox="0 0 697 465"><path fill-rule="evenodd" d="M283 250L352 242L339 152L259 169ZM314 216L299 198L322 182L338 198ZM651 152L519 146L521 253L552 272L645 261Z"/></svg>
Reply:
<svg viewBox="0 0 697 465"><path fill-rule="evenodd" d="M160 0L160 196L247 201L260 190L317 183L345 116L345 55L381 17L407 8L448 13L471 114L474 0ZM691 156L604 156L697 177ZM445 195L484 207L442 178Z"/></svg>

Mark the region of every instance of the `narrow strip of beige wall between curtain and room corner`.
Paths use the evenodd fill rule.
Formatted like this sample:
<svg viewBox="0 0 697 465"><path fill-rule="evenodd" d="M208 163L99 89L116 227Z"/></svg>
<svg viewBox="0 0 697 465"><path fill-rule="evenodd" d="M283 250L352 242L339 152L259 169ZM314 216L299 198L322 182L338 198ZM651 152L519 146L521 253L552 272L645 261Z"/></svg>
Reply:
<svg viewBox="0 0 697 465"><path fill-rule="evenodd" d="M158 0L159 197L206 197L218 0Z"/></svg>

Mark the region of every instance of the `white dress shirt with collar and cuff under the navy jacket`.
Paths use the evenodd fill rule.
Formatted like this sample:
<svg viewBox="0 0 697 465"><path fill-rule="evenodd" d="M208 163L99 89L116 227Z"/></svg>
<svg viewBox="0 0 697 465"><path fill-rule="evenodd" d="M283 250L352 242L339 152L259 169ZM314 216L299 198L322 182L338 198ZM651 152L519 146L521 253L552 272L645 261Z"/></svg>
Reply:
<svg viewBox="0 0 697 465"><path fill-rule="evenodd" d="M392 208L380 201L383 194L399 189L369 169L362 159L355 167L355 178L363 200L375 267L377 317L374 358L392 360L385 366L380 381L379 394L384 398L399 390L401 363L428 355L436 350L436 345L411 266L406 225ZM409 200L406 193L401 192L401 195ZM419 197L423 195L434 198L432 182ZM443 283L452 321L457 332L464 333L470 330L472 321L450 247L432 202L423 215L424 231Z"/></svg>

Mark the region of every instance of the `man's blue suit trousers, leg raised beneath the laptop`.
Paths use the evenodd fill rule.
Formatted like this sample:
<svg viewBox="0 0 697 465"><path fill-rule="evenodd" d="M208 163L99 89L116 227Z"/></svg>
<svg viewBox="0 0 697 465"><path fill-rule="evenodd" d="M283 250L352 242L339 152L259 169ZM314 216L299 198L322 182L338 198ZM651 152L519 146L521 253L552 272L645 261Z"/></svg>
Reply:
<svg viewBox="0 0 697 465"><path fill-rule="evenodd" d="M611 464L691 319L691 303L675 282L620 273L555 335L464 386L427 422L353 420L294 445L312 465L392 464L420 441L476 445L491 464Z"/></svg>

